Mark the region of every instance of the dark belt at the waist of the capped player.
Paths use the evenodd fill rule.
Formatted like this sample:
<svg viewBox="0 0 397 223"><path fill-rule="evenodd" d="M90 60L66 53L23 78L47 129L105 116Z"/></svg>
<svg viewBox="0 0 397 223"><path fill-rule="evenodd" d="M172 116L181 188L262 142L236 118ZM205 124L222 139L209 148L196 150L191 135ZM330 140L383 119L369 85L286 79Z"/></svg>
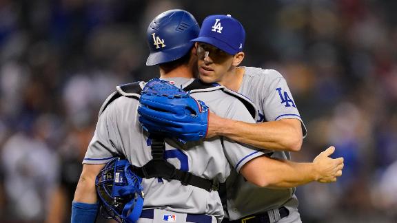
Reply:
<svg viewBox="0 0 397 223"><path fill-rule="evenodd" d="M278 209L278 213L280 213L279 219L287 217L289 215L288 209L284 206ZM266 213L248 215L247 217L242 217L234 221L224 219L222 223L273 223L278 222L278 220L277 217L274 216L274 211L267 211Z"/></svg>

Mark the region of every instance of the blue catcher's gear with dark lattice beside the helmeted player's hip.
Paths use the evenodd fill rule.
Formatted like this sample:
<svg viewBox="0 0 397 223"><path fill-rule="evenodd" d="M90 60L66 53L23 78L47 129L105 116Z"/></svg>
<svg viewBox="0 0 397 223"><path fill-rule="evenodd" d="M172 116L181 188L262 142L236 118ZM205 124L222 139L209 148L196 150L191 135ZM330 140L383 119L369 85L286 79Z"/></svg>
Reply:
<svg viewBox="0 0 397 223"><path fill-rule="evenodd" d="M132 173L128 160L113 158L96 176L95 185L104 217L136 222L143 207L142 179Z"/></svg>

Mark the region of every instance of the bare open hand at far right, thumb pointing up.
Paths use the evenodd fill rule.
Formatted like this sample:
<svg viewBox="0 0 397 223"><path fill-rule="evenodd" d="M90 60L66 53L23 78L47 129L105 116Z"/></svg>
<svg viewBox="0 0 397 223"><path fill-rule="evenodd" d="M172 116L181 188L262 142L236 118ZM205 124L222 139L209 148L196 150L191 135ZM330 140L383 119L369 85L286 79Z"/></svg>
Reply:
<svg viewBox="0 0 397 223"><path fill-rule="evenodd" d="M334 153L335 147L329 147L314 158L314 170L316 171L316 181L318 182L336 182L336 178L342 176L343 158L330 158Z"/></svg>

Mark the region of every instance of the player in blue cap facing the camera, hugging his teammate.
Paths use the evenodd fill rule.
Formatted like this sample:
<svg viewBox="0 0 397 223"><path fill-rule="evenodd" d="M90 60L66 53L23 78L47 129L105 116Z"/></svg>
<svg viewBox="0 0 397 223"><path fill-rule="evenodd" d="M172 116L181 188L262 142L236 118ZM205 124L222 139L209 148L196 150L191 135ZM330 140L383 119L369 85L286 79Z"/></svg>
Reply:
<svg viewBox="0 0 397 223"><path fill-rule="evenodd" d="M305 169L289 161L289 152L301 149L306 129L292 98L291 92L281 74L275 70L262 70L255 67L238 67L244 59L243 45L245 31L241 23L230 15L214 15L203 21L196 42L199 75L206 83L220 83L250 98L259 108L257 124L221 118L210 114L207 138L226 136L238 142L263 149L272 149L272 158L281 159L289 170ZM211 107L210 107L211 108ZM172 120L172 118L170 118ZM167 127L163 122L163 131L171 136L183 136L179 129ZM178 120L172 120L178 122ZM150 123L143 123L150 125ZM283 151L285 150L285 151ZM334 147L329 147L322 156L329 156ZM266 171L267 182L257 187L248 183L246 176L233 171L227 180L227 217L236 222L301 222L294 189L273 190L272 187L296 187L309 182L291 181L288 171L278 167L273 160L254 159L250 163L267 162L265 169L251 169L255 175ZM338 162L338 173L331 181L342 174L343 158ZM244 173L244 169L241 171ZM320 182L325 182L319 180ZM227 222L227 220L225 220ZM234 221L233 221L234 222Z"/></svg>

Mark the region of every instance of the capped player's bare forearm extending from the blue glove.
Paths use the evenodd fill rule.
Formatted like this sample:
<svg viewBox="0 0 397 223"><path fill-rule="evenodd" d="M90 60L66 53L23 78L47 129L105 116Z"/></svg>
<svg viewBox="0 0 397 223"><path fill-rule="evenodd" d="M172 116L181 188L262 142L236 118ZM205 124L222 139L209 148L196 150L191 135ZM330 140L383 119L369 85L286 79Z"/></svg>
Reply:
<svg viewBox="0 0 397 223"><path fill-rule="evenodd" d="M207 135L225 136L247 145L272 150L299 151L302 145L299 120L244 123L211 114Z"/></svg>

